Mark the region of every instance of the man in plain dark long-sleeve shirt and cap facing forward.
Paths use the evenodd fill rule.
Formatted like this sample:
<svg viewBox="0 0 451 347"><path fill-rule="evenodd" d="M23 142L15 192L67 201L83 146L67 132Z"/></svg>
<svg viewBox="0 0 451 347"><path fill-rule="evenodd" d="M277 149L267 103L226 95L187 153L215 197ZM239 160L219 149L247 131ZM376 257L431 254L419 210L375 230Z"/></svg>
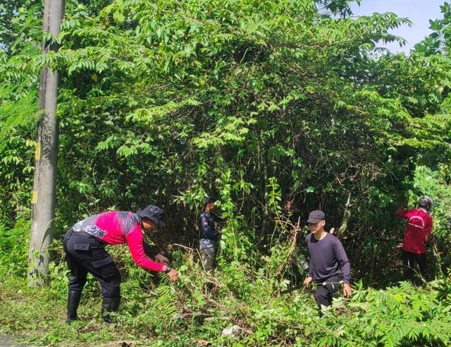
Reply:
<svg viewBox="0 0 451 347"><path fill-rule="evenodd" d="M340 290L343 282L343 295L351 296L351 265L347 260L345 249L335 236L324 230L326 225L326 214L319 210L309 214L307 220L310 233L305 238L310 253L309 276L304 281L308 286L315 281L315 300L319 312L323 306L332 304L333 293Z"/></svg>

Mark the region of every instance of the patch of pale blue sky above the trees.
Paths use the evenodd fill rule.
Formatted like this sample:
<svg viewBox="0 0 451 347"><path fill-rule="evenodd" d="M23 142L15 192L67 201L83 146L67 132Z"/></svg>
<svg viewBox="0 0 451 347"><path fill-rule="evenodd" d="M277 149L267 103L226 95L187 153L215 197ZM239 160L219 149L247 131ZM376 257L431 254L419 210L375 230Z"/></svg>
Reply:
<svg viewBox="0 0 451 347"><path fill-rule="evenodd" d="M362 0L360 6L352 5L352 12L354 16L368 16L374 12L393 12L398 17L407 17L412 20L412 27L402 25L392 31L394 35L407 39L406 46L400 47L397 43L380 44L381 47L386 47L393 53L398 51L408 53L416 43L431 33L429 20L443 18L440 5L444 2L445 0Z"/></svg>

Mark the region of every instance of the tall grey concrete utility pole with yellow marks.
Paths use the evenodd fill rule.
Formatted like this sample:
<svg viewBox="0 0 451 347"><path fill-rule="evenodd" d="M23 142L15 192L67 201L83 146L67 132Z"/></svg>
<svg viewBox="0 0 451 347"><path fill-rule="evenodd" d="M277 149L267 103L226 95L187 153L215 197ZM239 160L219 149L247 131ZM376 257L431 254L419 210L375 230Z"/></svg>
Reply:
<svg viewBox="0 0 451 347"><path fill-rule="evenodd" d="M44 1L44 33L57 36L64 17L64 0ZM42 54L58 51L58 45L44 39ZM28 283L47 284L49 245L54 238L56 172L58 163L58 120L55 118L59 85L58 71L44 67L39 81L39 110L32 194Z"/></svg>

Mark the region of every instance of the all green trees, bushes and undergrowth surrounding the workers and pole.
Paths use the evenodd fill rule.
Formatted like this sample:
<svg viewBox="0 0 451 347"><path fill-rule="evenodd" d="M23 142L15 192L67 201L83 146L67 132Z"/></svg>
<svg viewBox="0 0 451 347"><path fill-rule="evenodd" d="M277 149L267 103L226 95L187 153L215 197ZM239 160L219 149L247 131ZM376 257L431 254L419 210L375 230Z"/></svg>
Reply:
<svg viewBox="0 0 451 347"><path fill-rule="evenodd" d="M61 35L46 37L61 49L44 55L42 4L1 4L1 325L26 327L35 331L32 343L46 345L447 346L450 6L406 56L377 42L402 44L390 30L409 20L352 18L350 4L70 0ZM51 287L34 291L20 276L43 66L61 71L61 136ZM414 202L422 194L436 201L433 268L441 277L431 286L359 285L325 319L316 317L310 293L279 295L295 283L291 266L303 237L280 226L283 197L295 198L301 220L321 208L328 228L343 226L353 276L382 287L400 276L394 211L404 196ZM180 284L157 276L149 283L125 248L114 248L121 328L86 323L99 320L94 279L82 322L63 324L60 238L76 220L152 202L170 217L156 243L190 248L205 195L217 197L227 217L215 276L200 270L193 252L173 246ZM233 324L242 334L221 337Z"/></svg>

